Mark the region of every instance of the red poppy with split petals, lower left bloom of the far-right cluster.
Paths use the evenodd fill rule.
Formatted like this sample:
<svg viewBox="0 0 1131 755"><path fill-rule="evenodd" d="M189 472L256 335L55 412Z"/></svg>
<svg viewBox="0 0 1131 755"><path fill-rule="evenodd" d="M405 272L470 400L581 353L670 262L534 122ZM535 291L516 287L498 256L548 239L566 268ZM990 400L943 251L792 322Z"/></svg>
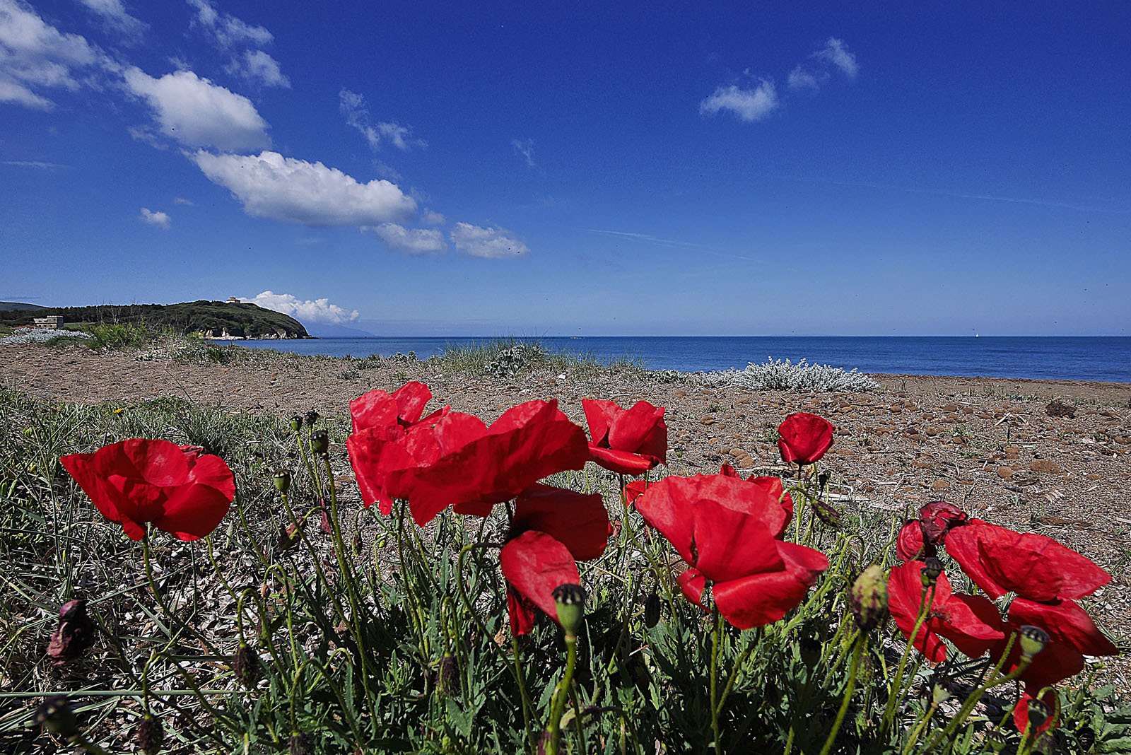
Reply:
<svg viewBox="0 0 1131 755"><path fill-rule="evenodd" d="M888 576L888 610L896 626L910 639L923 602L923 567L921 561L892 566ZM930 591L927 595L931 595ZM978 658L1004 639L1005 624L998 607L982 596L955 595L946 574L934 585L926 619L915 635L914 646L935 663L947 658L942 637L955 643L962 654Z"/></svg>

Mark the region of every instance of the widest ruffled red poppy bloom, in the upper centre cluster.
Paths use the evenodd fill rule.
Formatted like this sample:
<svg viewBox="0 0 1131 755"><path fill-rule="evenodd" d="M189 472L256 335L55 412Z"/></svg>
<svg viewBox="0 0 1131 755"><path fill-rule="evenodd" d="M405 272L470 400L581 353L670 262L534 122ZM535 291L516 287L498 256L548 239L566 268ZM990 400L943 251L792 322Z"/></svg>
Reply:
<svg viewBox="0 0 1131 755"><path fill-rule="evenodd" d="M558 409L556 400L520 403L490 427L452 411L426 442L418 465L392 469L386 478L390 495L408 500L417 524L449 504L458 513L485 517L494 504L543 477L581 469L589 458L585 431Z"/></svg>

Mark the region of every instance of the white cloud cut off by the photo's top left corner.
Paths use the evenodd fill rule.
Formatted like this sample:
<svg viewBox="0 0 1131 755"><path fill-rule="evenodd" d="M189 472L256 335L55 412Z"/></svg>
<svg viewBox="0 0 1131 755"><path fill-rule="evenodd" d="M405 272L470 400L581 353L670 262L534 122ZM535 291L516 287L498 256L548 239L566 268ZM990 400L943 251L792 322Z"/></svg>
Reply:
<svg viewBox="0 0 1131 755"><path fill-rule="evenodd" d="M54 103L41 89L78 89L84 72L109 66L83 36L59 32L23 3L0 0L0 102L51 110Z"/></svg>

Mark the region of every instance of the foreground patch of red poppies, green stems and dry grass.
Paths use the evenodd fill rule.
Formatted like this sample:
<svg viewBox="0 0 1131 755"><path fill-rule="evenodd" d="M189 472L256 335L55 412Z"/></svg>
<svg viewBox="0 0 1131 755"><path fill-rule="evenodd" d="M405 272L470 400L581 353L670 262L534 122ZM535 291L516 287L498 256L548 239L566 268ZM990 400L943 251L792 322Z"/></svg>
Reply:
<svg viewBox="0 0 1131 755"><path fill-rule="evenodd" d="M681 476L647 401L489 428L430 396L284 419L0 391L0 749L1131 746L1102 667L1074 676L1115 650L1087 618L1106 572L960 506L831 495L822 418L776 429L777 476ZM406 461L431 434L449 450ZM183 470L159 493L156 459Z"/></svg>

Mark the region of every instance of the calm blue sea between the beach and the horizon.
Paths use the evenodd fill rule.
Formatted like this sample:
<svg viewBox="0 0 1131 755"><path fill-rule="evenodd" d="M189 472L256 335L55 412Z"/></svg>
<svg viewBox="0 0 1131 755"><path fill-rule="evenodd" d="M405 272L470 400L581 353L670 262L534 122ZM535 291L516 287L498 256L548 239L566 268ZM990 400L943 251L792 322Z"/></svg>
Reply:
<svg viewBox="0 0 1131 755"><path fill-rule="evenodd" d="M483 338L318 338L236 341L247 348L296 354L364 357L415 352L425 359L449 344ZM541 338L547 348L599 359L633 357L653 370L697 372L743 368L767 358L805 358L810 364L867 373L1052 378L1131 382L1131 337L780 337L780 336L584 336Z"/></svg>

